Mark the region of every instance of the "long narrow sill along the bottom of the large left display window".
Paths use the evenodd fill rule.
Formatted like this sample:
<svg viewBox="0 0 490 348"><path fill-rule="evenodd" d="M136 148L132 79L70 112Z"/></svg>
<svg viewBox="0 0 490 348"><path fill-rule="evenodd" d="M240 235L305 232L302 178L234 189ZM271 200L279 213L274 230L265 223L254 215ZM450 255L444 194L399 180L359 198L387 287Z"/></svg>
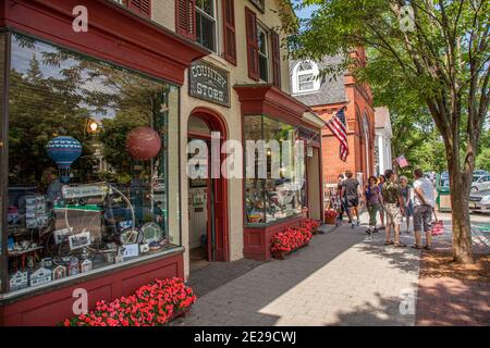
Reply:
<svg viewBox="0 0 490 348"><path fill-rule="evenodd" d="M127 260L127 261L124 261L121 263L114 263L114 264L111 264L111 265L108 265L105 268L100 268L97 270L91 270L91 271L84 272L81 274L66 276L61 279L51 281L51 282L42 284L42 285L38 285L38 286L34 286L34 287L29 286L29 287L26 287L26 288L23 288L20 290L15 290L15 291L11 291L8 294L0 294L0 304L3 304L3 302L11 302L14 299L19 299L19 298L23 298L23 297L30 297L34 295L40 295L42 293L48 293L50 290L58 289L61 287L91 281L93 278L103 276L105 274L111 273L113 271L130 269L130 268L136 266L140 263L146 263L156 258L170 256L170 254L174 254L174 253L182 253L182 252L184 252L184 247L175 247L172 249L158 251L158 252L155 252L151 254L146 254L146 256L139 257L137 259Z"/></svg>

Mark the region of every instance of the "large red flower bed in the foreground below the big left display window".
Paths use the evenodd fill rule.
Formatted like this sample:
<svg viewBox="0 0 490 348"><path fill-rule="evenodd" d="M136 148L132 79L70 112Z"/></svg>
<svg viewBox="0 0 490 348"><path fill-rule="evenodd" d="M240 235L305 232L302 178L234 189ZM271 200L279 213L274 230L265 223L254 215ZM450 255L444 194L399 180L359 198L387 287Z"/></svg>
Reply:
<svg viewBox="0 0 490 348"><path fill-rule="evenodd" d="M99 301L87 314L65 319L64 326L161 326L185 312L197 297L181 278L156 279L128 297Z"/></svg>

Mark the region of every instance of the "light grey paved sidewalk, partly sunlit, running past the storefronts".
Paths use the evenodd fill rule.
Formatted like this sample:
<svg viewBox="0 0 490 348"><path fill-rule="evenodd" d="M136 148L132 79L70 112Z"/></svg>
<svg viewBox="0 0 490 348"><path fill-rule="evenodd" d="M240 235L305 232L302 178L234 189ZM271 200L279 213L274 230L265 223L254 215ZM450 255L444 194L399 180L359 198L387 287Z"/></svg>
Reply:
<svg viewBox="0 0 490 348"><path fill-rule="evenodd" d="M174 324L414 325L414 311L402 314L400 303L403 291L417 293L419 251L384 247L383 232L367 240L365 229L343 225L286 260L254 264L205 291ZM201 271L200 278L220 278L213 269Z"/></svg>

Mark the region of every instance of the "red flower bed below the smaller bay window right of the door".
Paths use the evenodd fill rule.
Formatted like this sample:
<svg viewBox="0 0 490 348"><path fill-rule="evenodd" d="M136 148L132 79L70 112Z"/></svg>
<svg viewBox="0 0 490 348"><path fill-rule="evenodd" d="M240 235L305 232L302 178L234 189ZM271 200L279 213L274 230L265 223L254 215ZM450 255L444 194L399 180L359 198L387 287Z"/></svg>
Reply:
<svg viewBox="0 0 490 348"><path fill-rule="evenodd" d="M313 237L313 232L315 232L320 223L313 219L308 219L302 222L297 227L287 227L283 232L278 232L272 238L272 246L270 251L278 258L284 258L296 249L299 249L307 245Z"/></svg>

